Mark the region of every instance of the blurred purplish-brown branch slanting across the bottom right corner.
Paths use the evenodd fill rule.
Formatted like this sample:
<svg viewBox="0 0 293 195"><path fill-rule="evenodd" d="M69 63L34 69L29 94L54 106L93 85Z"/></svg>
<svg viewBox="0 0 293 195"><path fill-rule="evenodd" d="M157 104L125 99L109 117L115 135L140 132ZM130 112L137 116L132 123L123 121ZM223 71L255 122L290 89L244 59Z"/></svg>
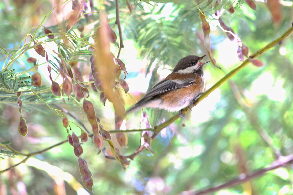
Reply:
<svg viewBox="0 0 293 195"><path fill-rule="evenodd" d="M240 174L238 178L234 180L230 180L229 182L226 182L222 185L216 186L216 187L211 187L202 191L190 191L190 192L185 192L186 195L201 195L201 194L207 194L207 193L212 193L219 191L221 189L229 188L232 186L235 186L237 184L242 184L244 182L247 182L249 180L254 179L255 177L258 177L260 175L263 175L264 173L270 171L270 170L275 170L280 167L284 167L285 165L292 163L293 162L293 154L290 154L288 156L281 157L279 160L274 161L271 163L271 166L268 168L264 169L259 169L251 174Z"/></svg>

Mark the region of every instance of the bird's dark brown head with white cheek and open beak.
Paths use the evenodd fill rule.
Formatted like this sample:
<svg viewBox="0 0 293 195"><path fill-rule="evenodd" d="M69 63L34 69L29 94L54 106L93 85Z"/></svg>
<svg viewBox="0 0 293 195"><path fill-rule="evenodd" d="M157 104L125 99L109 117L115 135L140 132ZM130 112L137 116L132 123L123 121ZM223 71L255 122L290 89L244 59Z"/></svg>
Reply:
<svg viewBox="0 0 293 195"><path fill-rule="evenodd" d="M210 62L201 62L202 58L204 56L185 56L184 58L181 58L179 62L176 64L175 68L173 69L174 73L181 73L181 74L189 74L189 73L196 73L203 74L202 72L202 65Z"/></svg>

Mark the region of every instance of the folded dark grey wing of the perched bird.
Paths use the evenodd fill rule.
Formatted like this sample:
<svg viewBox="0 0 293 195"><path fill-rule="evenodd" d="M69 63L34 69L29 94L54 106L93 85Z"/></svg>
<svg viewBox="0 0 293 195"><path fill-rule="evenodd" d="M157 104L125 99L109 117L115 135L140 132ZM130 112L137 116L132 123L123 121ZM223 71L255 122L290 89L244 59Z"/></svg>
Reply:
<svg viewBox="0 0 293 195"><path fill-rule="evenodd" d="M188 78L185 80L163 80L156 84L139 102L143 102L146 99L149 99L155 95L159 95L171 90L188 87L194 83L194 78Z"/></svg>

